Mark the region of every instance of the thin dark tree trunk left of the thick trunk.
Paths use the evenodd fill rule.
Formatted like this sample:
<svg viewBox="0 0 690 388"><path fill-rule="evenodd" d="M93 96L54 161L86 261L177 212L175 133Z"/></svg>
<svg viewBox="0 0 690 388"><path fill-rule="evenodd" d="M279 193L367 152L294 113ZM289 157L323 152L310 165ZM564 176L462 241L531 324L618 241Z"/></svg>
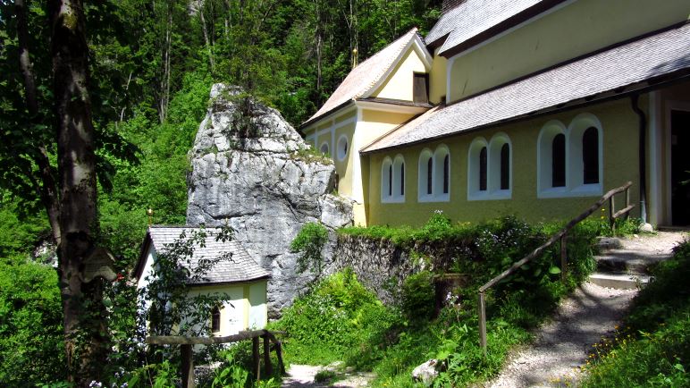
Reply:
<svg viewBox="0 0 690 388"><path fill-rule="evenodd" d="M19 43L19 65L21 74L24 77L24 97L29 110L30 122L36 124L38 120L38 90L36 88L36 77L33 72L31 57L29 56L29 23L27 22L27 10L24 0L15 0L14 11L17 15L17 40ZM33 156L38 165L38 175L40 181L36 181L34 186L38 191L38 198L41 198L43 206L46 207L46 215L53 231L55 244L60 243L60 225L58 223L59 207L57 190L55 188L55 177L50 168L50 161L45 146L38 147L38 152Z"/></svg>

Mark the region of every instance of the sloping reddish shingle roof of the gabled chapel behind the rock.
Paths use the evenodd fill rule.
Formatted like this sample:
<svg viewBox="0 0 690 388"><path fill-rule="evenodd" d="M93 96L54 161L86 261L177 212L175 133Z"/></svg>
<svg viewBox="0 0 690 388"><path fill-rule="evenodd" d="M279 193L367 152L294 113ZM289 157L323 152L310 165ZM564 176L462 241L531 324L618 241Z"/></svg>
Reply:
<svg viewBox="0 0 690 388"><path fill-rule="evenodd" d="M357 67L349 72L345 80L342 80L341 85L335 89L331 97L328 98L316 114L312 115L302 125L314 122L321 116L341 107L341 105L364 96L388 72L402 54L403 49L416 36L417 28L409 30L407 34L398 38L390 45L385 46L383 50L372 55L366 61L359 63Z"/></svg>

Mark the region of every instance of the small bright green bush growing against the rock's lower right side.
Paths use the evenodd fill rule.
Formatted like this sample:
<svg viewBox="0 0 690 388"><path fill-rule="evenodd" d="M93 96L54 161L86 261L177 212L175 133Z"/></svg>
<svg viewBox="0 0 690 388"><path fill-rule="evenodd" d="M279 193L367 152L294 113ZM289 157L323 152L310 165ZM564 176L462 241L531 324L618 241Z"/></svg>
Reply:
<svg viewBox="0 0 690 388"><path fill-rule="evenodd" d="M320 223L307 223L299 230L295 239L290 242L290 251L299 252L297 272L299 274L310 269L316 278L321 275L324 267L324 257L321 250L328 241L328 230Z"/></svg>

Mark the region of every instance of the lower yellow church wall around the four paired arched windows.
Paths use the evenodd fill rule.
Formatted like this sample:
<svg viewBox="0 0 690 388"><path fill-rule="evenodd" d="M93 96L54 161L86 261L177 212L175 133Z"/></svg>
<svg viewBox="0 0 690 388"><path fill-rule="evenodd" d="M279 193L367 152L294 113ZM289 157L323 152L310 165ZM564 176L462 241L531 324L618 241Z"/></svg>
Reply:
<svg viewBox="0 0 690 388"><path fill-rule="evenodd" d="M644 105L641 104L643 107ZM559 120L568 126L578 114L593 114L602 124L602 193L585 197L538 198L537 139L544 124ZM478 223L501 215L517 215L530 222L568 220L580 214L603 192L633 181L631 202L633 216L639 216L639 180L637 173L638 117L630 108L629 99L590 106L586 109L552 114L525 122L498 126L492 130L459 134L420 146L399 148L370 154L367 224L420 225L434 210L441 210L453 221ZM512 187L509 199L467 200L467 154L470 143L477 137L491 139L496 133L508 134L512 157ZM450 150L450 200L418 202L417 164L423 149L432 152L439 145ZM382 203L381 176L383 158L402 155L405 159L405 201ZM625 199L618 198L618 209Z"/></svg>

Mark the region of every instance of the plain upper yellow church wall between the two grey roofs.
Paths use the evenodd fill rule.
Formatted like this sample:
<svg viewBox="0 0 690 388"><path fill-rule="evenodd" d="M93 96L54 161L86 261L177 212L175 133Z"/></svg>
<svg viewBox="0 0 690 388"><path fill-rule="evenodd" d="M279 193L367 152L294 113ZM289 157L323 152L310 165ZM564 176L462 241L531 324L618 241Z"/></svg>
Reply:
<svg viewBox="0 0 690 388"><path fill-rule="evenodd" d="M686 21L688 15L686 0L578 0L474 51L451 57L449 101Z"/></svg>

